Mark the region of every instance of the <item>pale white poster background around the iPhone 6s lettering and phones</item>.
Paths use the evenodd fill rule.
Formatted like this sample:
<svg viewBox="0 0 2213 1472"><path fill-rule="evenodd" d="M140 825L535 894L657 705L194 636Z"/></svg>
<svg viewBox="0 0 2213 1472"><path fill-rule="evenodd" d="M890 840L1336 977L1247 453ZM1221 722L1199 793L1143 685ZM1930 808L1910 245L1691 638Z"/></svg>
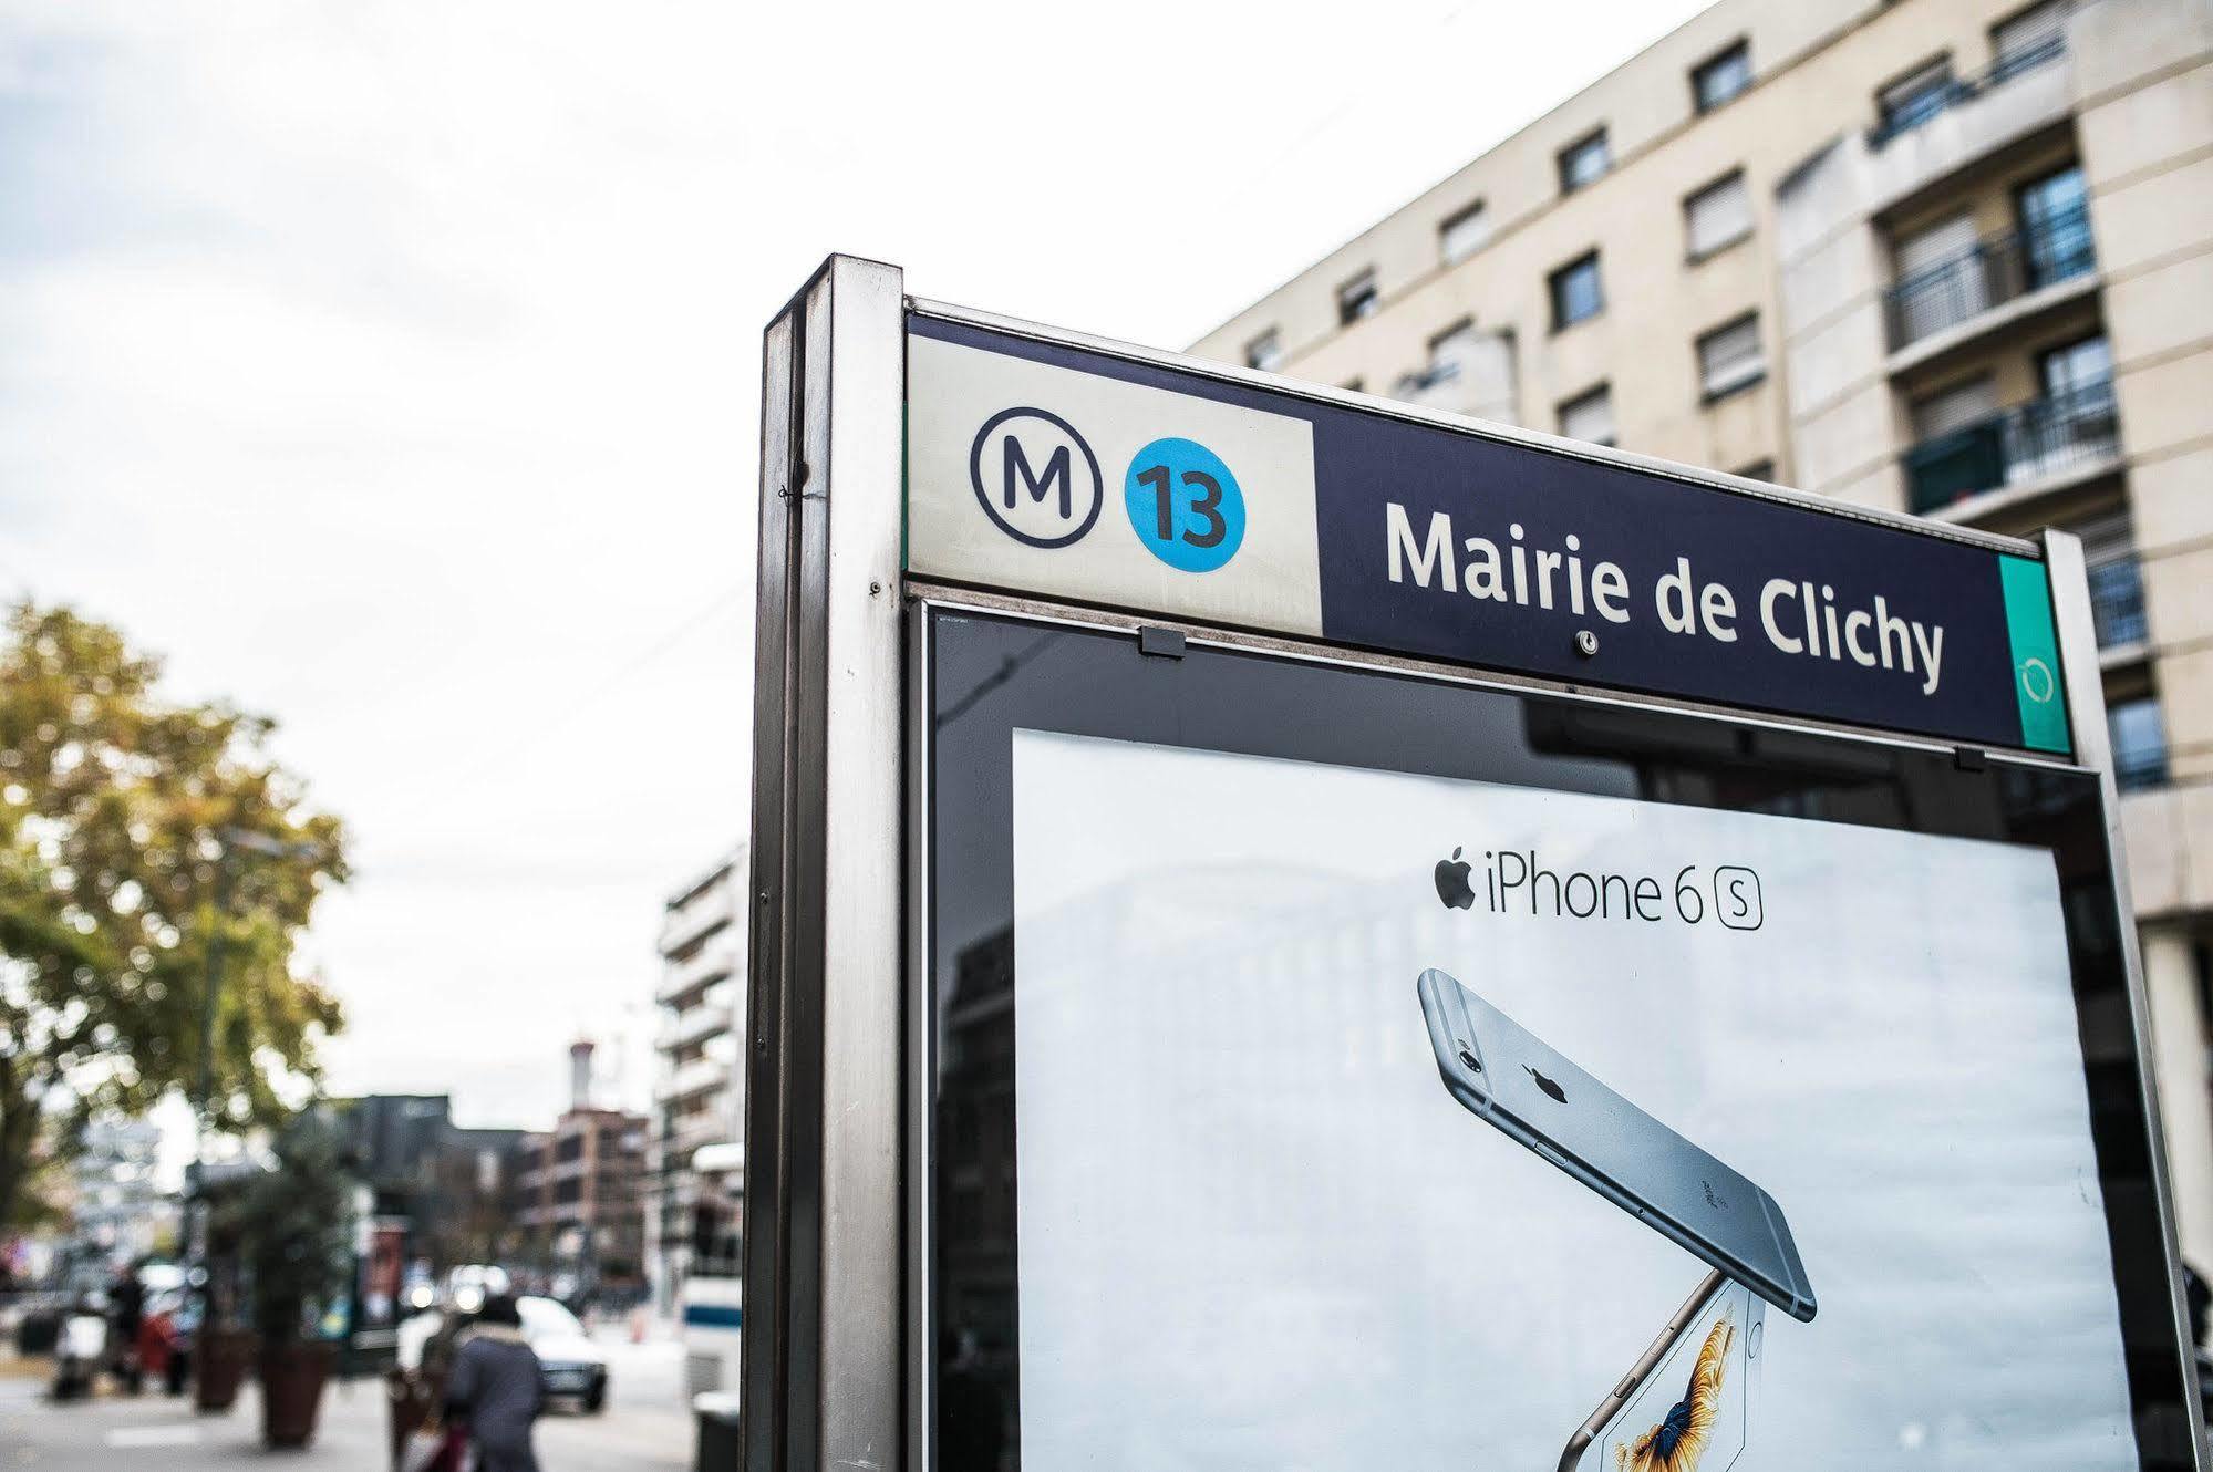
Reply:
<svg viewBox="0 0 2213 1472"><path fill-rule="evenodd" d="M1766 923L1447 910L1454 846ZM1031 1472L1558 1463L1706 1268L1445 1093L1430 965L1788 1213L1737 1468L2136 1468L2049 854L1016 733L1014 874Z"/></svg>

